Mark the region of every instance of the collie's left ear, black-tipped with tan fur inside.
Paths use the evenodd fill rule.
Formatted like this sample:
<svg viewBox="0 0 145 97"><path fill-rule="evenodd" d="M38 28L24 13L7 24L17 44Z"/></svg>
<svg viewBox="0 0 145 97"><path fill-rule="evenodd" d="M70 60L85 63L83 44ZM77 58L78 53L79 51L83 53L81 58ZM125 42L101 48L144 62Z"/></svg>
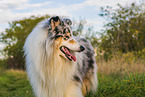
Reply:
<svg viewBox="0 0 145 97"><path fill-rule="evenodd" d="M60 24L60 18L58 16L51 17L49 22L52 29L55 29L55 27Z"/></svg>

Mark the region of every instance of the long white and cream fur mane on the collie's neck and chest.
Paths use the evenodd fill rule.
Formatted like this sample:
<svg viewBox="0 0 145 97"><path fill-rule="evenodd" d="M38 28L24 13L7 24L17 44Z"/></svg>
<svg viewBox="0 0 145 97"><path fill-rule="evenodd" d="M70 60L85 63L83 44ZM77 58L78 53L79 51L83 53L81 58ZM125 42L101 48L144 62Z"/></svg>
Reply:
<svg viewBox="0 0 145 97"><path fill-rule="evenodd" d="M47 30L42 29L43 23L34 28L24 46L28 77L38 97L63 97L76 67L74 62L62 60L57 55Z"/></svg>

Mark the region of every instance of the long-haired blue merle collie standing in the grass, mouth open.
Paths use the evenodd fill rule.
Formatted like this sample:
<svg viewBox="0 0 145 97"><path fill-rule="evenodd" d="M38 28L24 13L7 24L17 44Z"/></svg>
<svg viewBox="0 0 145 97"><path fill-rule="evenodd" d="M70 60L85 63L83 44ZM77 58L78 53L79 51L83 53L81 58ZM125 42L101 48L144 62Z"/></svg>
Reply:
<svg viewBox="0 0 145 97"><path fill-rule="evenodd" d="M97 88L93 47L73 36L71 24L70 19L51 17L26 39L26 69L36 97L85 97Z"/></svg>

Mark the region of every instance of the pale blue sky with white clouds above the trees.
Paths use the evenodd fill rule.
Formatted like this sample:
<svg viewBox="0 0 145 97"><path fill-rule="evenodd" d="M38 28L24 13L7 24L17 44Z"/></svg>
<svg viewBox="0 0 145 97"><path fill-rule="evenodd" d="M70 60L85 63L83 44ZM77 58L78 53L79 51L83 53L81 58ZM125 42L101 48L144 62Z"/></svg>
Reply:
<svg viewBox="0 0 145 97"><path fill-rule="evenodd" d="M0 33L9 27L8 22L29 18L32 15L66 16L72 20L85 19L95 31L103 29L105 20L100 17L100 7L117 4L123 6L142 0L0 0ZM0 43L0 49L4 45Z"/></svg>

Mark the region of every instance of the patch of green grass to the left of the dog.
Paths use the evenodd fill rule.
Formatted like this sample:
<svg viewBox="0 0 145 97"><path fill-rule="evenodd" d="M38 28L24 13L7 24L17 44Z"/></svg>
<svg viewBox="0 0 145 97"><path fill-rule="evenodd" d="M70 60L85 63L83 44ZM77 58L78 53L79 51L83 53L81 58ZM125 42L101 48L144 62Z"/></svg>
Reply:
<svg viewBox="0 0 145 97"><path fill-rule="evenodd" d="M18 70L1 72L0 97L33 97L26 72Z"/></svg>

